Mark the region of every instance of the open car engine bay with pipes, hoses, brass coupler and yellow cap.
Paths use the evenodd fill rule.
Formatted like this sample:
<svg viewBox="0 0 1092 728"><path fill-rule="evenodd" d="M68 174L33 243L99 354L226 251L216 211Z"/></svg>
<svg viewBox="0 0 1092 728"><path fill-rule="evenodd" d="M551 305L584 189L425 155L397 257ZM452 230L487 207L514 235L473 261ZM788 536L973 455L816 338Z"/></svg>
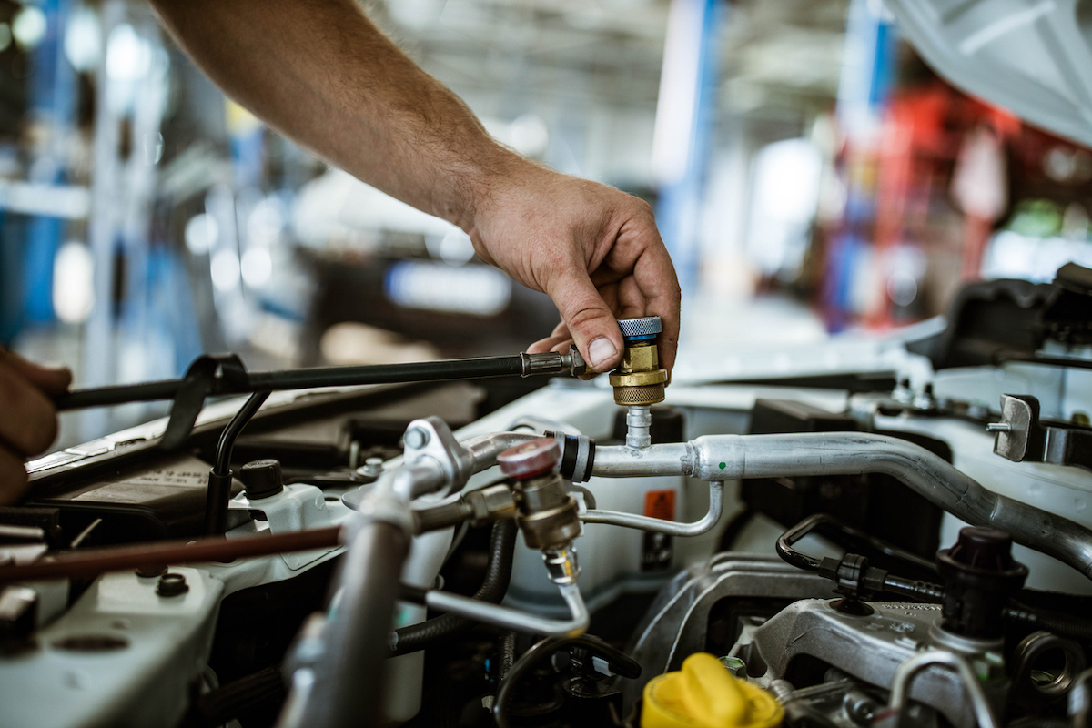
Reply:
<svg viewBox="0 0 1092 728"><path fill-rule="evenodd" d="M174 405L0 510L0 725L1083 727L1090 321L73 392Z"/></svg>

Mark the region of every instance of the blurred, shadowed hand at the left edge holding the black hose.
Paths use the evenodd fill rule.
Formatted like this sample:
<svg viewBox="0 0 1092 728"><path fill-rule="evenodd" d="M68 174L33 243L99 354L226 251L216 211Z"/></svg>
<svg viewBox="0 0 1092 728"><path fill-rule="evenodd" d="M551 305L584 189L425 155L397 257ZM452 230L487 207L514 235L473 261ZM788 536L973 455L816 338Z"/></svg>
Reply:
<svg viewBox="0 0 1092 728"><path fill-rule="evenodd" d="M26 489L24 461L57 438L57 410L47 395L72 383L66 368L41 367L0 347L0 504Z"/></svg>

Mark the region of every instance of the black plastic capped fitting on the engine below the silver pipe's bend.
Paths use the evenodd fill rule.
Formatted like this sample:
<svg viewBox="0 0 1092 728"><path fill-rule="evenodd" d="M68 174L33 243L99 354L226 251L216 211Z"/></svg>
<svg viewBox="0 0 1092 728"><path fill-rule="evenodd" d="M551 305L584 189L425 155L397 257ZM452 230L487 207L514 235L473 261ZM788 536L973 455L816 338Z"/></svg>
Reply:
<svg viewBox="0 0 1092 728"><path fill-rule="evenodd" d="M1004 635L1004 609L1028 577L1028 566L1012 558L1005 532L969 526L950 549L937 552L945 580L943 629L968 637Z"/></svg>

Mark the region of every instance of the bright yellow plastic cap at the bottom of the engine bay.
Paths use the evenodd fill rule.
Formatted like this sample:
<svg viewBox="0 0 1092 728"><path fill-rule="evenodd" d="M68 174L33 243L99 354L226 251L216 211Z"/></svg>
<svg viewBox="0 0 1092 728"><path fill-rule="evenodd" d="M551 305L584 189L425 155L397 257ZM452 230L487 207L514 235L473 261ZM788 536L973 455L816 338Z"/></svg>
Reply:
<svg viewBox="0 0 1092 728"><path fill-rule="evenodd" d="M776 697L697 653L644 687L641 728L774 728L784 715Z"/></svg>

